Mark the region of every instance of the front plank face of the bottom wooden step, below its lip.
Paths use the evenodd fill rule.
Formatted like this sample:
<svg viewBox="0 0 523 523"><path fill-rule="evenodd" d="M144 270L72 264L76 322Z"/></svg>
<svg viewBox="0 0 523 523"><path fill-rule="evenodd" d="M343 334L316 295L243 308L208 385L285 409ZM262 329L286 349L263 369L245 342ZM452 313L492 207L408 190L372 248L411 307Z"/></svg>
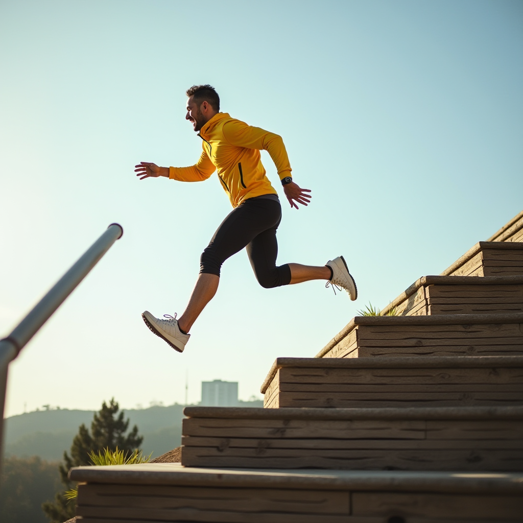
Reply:
<svg viewBox="0 0 523 523"><path fill-rule="evenodd" d="M514 523L521 496L346 490L278 490L162 485L79 485L77 513L96 523ZM385 519L384 519L385 518Z"/></svg>

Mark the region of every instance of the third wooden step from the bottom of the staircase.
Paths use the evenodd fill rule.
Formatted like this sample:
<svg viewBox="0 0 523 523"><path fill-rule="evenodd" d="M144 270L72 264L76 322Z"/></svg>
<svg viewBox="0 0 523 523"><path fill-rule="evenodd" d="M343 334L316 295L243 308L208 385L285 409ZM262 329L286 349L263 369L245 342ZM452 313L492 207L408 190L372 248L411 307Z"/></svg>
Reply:
<svg viewBox="0 0 523 523"><path fill-rule="evenodd" d="M523 356L278 358L265 408L523 404Z"/></svg>

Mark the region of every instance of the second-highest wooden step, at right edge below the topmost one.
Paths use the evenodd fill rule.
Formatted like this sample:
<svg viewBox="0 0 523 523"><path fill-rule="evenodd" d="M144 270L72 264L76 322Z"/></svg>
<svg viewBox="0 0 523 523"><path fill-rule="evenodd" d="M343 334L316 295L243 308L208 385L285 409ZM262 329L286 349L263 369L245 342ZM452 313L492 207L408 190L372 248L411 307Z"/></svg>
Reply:
<svg viewBox="0 0 523 523"><path fill-rule="evenodd" d="M523 243L479 242L441 273L441 276L523 275Z"/></svg>

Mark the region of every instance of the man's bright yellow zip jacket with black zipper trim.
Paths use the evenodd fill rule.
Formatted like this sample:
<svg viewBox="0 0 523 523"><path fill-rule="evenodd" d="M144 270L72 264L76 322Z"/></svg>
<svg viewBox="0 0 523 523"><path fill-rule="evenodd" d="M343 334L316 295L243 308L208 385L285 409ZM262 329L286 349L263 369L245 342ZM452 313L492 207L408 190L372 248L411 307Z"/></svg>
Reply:
<svg viewBox="0 0 523 523"><path fill-rule="evenodd" d="M291 176L291 166L283 140L277 134L251 127L226 112L215 114L201 129L200 159L191 167L169 167L169 178L203 181L215 169L232 206L255 196L278 194L261 164L260 150L270 154L280 179Z"/></svg>

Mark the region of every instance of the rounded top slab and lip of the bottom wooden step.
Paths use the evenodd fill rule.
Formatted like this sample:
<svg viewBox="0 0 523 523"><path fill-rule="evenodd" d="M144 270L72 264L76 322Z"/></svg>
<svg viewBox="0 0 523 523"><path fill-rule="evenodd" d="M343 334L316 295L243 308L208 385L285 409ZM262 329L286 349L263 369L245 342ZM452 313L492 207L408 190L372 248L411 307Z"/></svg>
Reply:
<svg viewBox="0 0 523 523"><path fill-rule="evenodd" d="M218 469L155 463L74 467L71 481L103 484L173 485L303 490L411 491L520 495L522 473ZM141 470L140 470L141 468ZM163 469L163 470L162 470Z"/></svg>

